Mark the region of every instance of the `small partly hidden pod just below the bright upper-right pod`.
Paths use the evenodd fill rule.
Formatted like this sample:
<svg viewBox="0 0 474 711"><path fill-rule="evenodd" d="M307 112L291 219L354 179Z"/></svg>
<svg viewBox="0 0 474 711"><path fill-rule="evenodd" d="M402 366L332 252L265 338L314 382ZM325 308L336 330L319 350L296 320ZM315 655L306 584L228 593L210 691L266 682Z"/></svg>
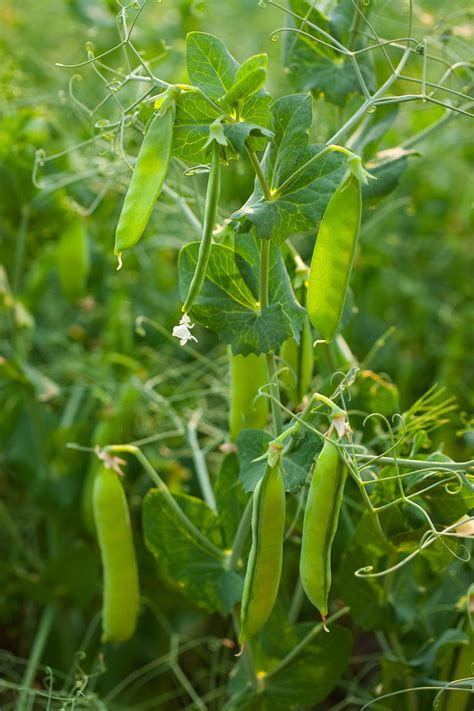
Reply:
<svg viewBox="0 0 474 711"><path fill-rule="evenodd" d="M289 338L281 347L282 365L286 366L281 380L293 405L299 405L308 393L313 377L313 334L308 319L305 319L300 342Z"/></svg>

